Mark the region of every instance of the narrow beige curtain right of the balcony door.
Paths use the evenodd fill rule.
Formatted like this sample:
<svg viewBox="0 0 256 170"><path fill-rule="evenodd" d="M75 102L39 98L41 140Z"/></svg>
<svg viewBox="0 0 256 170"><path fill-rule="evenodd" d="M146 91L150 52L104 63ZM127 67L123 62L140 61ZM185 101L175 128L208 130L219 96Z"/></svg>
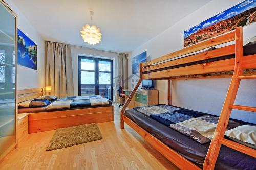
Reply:
<svg viewBox="0 0 256 170"><path fill-rule="evenodd" d="M119 53L118 54L118 80L117 80L117 89L119 86L122 86L123 89L128 88L128 55Z"/></svg>

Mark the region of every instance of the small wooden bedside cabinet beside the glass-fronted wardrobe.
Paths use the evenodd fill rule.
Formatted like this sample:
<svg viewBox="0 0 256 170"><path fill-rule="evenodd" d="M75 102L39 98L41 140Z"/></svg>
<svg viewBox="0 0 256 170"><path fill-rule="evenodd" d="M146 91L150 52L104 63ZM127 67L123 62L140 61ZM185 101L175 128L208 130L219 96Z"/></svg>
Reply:
<svg viewBox="0 0 256 170"><path fill-rule="evenodd" d="M18 114L18 142L22 141L29 133L29 113Z"/></svg>

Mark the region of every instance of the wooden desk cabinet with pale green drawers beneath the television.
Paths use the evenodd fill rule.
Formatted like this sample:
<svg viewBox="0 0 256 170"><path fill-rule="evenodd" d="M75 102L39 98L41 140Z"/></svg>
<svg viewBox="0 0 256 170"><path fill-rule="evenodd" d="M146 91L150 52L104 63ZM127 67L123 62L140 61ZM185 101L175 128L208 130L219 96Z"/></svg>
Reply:
<svg viewBox="0 0 256 170"><path fill-rule="evenodd" d="M158 104L158 90L138 90L135 93L134 107Z"/></svg>

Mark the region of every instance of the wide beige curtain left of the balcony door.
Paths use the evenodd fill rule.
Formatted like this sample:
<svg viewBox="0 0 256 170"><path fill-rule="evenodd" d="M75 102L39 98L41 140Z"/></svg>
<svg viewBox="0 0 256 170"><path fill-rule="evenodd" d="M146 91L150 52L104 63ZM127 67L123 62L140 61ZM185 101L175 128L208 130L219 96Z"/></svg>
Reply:
<svg viewBox="0 0 256 170"><path fill-rule="evenodd" d="M74 95L71 48L67 44L45 42L45 85L51 95L65 98Z"/></svg>

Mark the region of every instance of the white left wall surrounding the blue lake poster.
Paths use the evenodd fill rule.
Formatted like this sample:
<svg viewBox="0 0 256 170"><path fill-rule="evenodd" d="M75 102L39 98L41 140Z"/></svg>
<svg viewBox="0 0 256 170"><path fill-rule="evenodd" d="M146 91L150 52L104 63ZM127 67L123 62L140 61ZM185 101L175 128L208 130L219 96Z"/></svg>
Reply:
<svg viewBox="0 0 256 170"><path fill-rule="evenodd" d="M17 66L18 90L43 88L45 86L44 40L11 0L6 0L5 2L18 16L18 29L37 44L37 70L20 65Z"/></svg>

